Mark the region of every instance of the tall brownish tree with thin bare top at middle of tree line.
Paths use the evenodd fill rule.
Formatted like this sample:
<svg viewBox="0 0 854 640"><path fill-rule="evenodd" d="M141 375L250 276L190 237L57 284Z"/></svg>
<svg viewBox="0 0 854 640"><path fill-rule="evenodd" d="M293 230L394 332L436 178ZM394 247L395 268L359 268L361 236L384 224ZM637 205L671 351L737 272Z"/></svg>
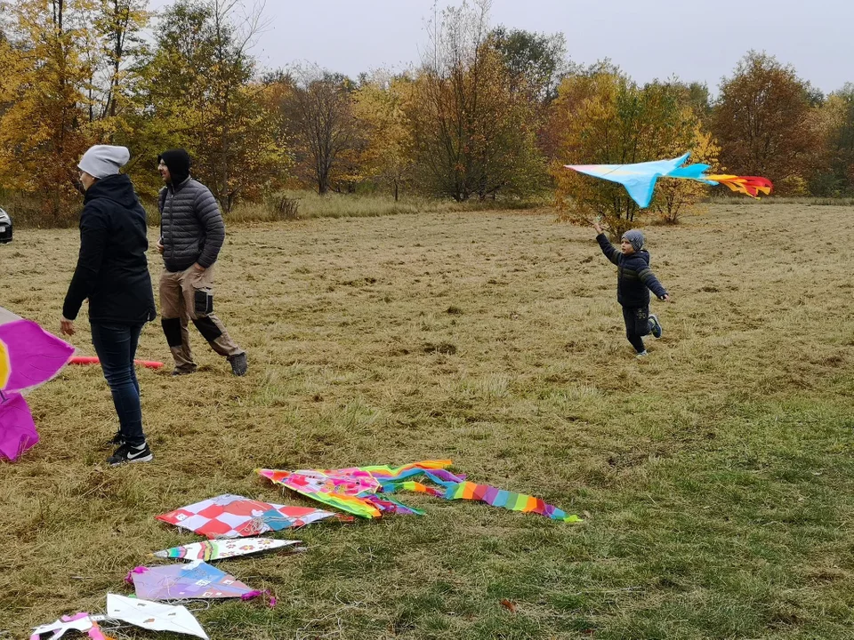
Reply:
<svg viewBox="0 0 854 640"><path fill-rule="evenodd" d="M488 10L487 0L463 2L431 24L431 54L407 104L416 180L457 201L522 196L544 182L534 110L489 39Z"/></svg>

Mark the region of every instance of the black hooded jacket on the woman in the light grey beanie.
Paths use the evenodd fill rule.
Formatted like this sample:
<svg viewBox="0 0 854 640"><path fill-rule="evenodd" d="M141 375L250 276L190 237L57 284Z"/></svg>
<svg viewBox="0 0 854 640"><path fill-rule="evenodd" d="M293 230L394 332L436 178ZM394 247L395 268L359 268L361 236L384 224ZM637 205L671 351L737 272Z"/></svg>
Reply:
<svg viewBox="0 0 854 640"><path fill-rule="evenodd" d="M145 210L126 175L96 181L80 215L80 255L62 315L74 320L89 299L89 321L143 324L157 316L151 290Z"/></svg>

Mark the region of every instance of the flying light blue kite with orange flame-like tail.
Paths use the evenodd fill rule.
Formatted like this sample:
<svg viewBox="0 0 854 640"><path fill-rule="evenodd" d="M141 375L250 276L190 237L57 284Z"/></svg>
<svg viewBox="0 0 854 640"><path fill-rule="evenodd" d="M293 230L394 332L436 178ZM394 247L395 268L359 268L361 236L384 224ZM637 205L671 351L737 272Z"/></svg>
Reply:
<svg viewBox="0 0 854 640"><path fill-rule="evenodd" d="M619 182L641 209L646 209L652 202L652 193L659 178L697 180L708 185L723 184L733 191L751 197L759 197L761 193L768 196L771 193L773 186L770 180L759 176L710 175L706 173L711 168L708 164L682 166L689 156L690 154L684 154L671 160L653 160L646 163L566 164L565 166L594 178Z"/></svg>

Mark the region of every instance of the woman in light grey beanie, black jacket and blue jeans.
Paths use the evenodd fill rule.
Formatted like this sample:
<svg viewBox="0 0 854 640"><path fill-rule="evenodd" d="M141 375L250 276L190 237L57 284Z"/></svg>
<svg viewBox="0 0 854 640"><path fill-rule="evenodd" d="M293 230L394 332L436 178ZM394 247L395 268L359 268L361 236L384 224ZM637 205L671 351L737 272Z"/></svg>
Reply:
<svg viewBox="0 0 854 640"><path fill-rule="evenodd" d="M74 320L89 300L92 342L101 360L118 414L110 444L111 466L153 458L142 431L140 383L133 357L143 324L154 320L145 210L133 183L119 173L130 159L125 147L96 145L77 164L85 189L80 214L80 253L62 307L60 331L75 332Z"/></svg>

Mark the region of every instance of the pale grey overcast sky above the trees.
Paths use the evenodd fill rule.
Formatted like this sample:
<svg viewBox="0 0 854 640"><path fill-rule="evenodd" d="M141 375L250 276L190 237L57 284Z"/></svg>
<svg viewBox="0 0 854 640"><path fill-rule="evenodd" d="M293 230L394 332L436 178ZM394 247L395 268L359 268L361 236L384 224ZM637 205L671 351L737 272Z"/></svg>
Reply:
<svg viewBox="0 0 854 640"><path fill-rule="evenodd" d="M439 1L447 4L460 3ZM269 26L253 53L265 68L310 61L351 77L407 68L426 48L432 7L432 0L267 0ZM716 92L750 49L793 65L823 92L854 82L854 0L494 0L490 15L493 25L560 31L570 60L609 58L641 83L678 76Z"/></svg>

